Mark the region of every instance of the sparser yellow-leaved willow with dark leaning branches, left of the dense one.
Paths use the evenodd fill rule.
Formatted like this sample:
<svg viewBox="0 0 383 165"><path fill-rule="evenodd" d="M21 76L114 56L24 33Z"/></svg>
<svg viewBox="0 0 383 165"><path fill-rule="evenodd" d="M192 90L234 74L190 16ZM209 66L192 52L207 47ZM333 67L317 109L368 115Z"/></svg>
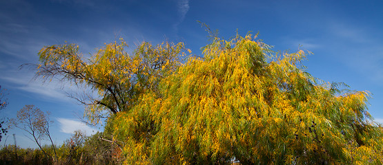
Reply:
<svg viewBox="0 0 383 165"><path fill-rule="evenodd" d="M57 78L85 88L70 94L86 105L85 115L96 124L102 117L129 111L140 94L158 93L158 83L179 66L183 43L141 43L128 54L124 39L106 44L95 54L83 56L79 45L66 43L43 47L39 52L36 78Z"/></svg>

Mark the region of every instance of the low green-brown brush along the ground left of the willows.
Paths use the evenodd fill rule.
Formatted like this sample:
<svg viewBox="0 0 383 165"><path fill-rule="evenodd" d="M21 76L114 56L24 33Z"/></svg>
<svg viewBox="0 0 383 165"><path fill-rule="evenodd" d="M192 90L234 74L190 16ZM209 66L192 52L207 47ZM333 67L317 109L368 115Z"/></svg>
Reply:
<svg viewBox="0 0 383 165"><path fill-rule="evenodd" d="M57 157L52 145L42 146L43 149L3 146L0 164L119 164L121 148L102 140L103 137L106 138L101 132L86 137L83 132L75 131L61 146L55 146Z"/></svg>

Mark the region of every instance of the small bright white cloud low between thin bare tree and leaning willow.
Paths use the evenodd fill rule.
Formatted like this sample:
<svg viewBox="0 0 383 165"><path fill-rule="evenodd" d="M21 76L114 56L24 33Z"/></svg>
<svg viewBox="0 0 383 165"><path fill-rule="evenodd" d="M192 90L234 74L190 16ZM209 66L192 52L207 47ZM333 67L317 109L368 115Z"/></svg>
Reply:
<svg viewBox="0 0 383 165"><path fill-rule="evenodd" d="M60 123L60 131L63 133L74 133L76 130L84 131L86 135L97 133L97 129L93 129L84 122L80 122L78 120L57 118L57 121Z"/></svg>

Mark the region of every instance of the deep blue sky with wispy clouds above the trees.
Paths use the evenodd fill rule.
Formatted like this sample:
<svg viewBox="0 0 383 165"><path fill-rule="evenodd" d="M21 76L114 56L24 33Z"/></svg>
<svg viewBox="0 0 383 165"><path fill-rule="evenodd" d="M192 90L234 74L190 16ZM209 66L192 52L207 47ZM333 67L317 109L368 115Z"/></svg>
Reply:
<svg viewBox="0 0 383 165"><path fill-rule="evenodd" d="M229 0L41 0L0 1L0 85L9 105L2 118L14 118L26 104L51 111L52 137L61 144L75 129L99 129L79 122L84 107L66 97L75 87L33 80L44 45L77 43L83 54L122 36L133 49L141 41L185 42L193 54L208 43L202 21L220 36L259 32L273 50L295 51L299 45L314 54L304 65L326 82L343 82L370 91L369 112L383 123L383 1L229 1ZM77 115L76 115L77 114ZM21 147L36 147L22 131L12 129Z"/></svg>

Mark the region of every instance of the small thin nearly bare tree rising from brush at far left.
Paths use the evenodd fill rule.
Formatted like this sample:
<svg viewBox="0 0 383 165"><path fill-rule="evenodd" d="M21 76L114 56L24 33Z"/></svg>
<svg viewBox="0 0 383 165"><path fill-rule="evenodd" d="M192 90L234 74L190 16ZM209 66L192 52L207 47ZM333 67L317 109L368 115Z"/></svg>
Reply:
<svg viewBox="0 0 383 165"><path fill-rule="evenodd" d="M35 105L26 105L17 111L17 118L10 120L12 126L16 126L32 135L33 139L30 139L36 142L37 146L39 146L46 156L49 155L41 146L41 140L48 137L55 152L55 159L57 160L55 145L49 132L50 123L52 123L52 121L49 119L49 112L43 112L35 107Z"/></svg>

